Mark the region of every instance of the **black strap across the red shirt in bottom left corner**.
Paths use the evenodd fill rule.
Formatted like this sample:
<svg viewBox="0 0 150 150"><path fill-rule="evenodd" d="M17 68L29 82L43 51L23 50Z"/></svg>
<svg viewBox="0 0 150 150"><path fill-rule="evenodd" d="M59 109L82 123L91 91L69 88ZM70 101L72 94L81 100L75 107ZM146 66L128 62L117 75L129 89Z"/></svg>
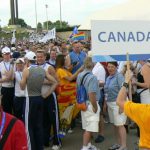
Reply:
<svg viewBox="0 0 150 150"><path fill-rule="evenodd" d="M5 142L7 141L7 138L9 136L9 133L11 132L11 129L13 128L15 122L17 121L17 118L12 118L11 121L9 122L4 135L2 139L0 140L0 149L3 149Z"/></svg>

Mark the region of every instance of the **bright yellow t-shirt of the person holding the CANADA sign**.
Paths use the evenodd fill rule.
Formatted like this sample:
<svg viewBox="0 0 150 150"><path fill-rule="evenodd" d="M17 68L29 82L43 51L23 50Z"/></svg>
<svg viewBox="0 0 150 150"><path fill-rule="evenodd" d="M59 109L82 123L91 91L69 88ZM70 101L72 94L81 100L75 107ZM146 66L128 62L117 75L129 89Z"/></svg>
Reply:
<svg viewBox="0 0 150 150"><path fill-rule="evenodd" d="M124 112L140 128L139 147L150 148L150 104L127 101L124 105Z"/></svg>

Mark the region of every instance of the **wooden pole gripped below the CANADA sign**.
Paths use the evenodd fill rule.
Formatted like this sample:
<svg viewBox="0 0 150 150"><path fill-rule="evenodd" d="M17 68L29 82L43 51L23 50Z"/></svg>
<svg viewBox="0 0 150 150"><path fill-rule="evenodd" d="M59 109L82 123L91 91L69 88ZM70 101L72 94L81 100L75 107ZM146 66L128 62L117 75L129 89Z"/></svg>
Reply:
<svg viewBox="0 0 150 150"><path fill-rule="evenodd" d="M130 60L129 60L129 53L128 52L126 54L126 59L127 59L127 71L128 71L128 75L130 76ZM132 101L132 85L131 85L131 80L129 81L129 100Z"/></svg>

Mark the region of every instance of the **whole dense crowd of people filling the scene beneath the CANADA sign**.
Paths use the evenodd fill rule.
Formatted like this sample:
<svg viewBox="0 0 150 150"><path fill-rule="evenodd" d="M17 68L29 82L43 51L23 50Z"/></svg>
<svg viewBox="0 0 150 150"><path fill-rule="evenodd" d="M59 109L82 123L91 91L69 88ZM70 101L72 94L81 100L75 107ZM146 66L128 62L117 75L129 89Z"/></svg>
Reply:
<svg viewBox="0 0 150 150"><path fill-rule="evenodd" d="M8 147L6 150L43 150L44 146L50 146L50 138L53 141L52 149L59 150L63 144L59 136L61 115L67 106L76 104L76 97L73 96L76 85L87 73L84 85L88 99L86 111L81 111L84 130L81 149L97 150L91 144L93 132L97 132L96 143L105 140L104 114L107 111L109 122L114 125L114 134L117 135L116 144L112 143L109 150L130 149L126 144L127 116L139 126L140 148L150 149L150 117L147 114L147 104L150 103L150 60L130 62L129 76L125 62L94 63L90 42L87 41L50 41L45 44L28 41L10 44L5 41L0 44L1 124L8 122L7 127L14 115L17 118L15 126L20 126L14 131L19 139L9 137L7 140L7 143L10 140L11 144L18 145L10 148L11 144L10 147L5 144L4 147ZM126 93L129 92L129 81L133 98L135 93L141 92L142 104L128 102ZM72 88L74 94L70 92L67 95L69 98L66 98L61 90L71 83L75 83ZM74 108L72 123L80 114L78 108ZM137 113L138 116L135 115ZM3 121L5 115L6 123ZM51 129L53 132L50 132ZM0 128L0 135L4 132Z"/></svg>

